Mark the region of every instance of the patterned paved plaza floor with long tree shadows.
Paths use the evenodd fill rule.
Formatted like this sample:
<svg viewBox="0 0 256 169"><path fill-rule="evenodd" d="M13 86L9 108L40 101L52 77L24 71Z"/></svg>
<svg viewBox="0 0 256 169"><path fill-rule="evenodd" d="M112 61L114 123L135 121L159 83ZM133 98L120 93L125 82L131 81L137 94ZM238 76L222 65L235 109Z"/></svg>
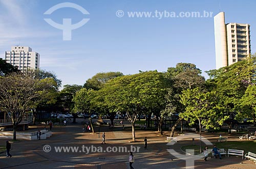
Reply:
<svg viewBox="0 0 256 169"><path fill-rule="evenodd" d="M81 121L81 119L79 119ZM53 127L53 135L45 140L19 140L12 143L10 153L12 158L5 157L5 153L0 154L0 168L90 168L90 169L109 169L129 167L129 152L116 152L119 147L130 150L131 146L136 148L134 152L135 163L133 167L139 169L147 168L186 168L186 161L170 154L167 149L175 150L183 154L181 147L191 145L191 140L184 140L174 145L167 145L166 135L158 136L156 131L136 131L136 143L130 143L132 140L131 128L122 129L121 126L115 129L109 129L106 126L95 127L96 133L82 132L81 122L73 125L71 123L65 127ZM127 124L129 122L126 122ZM127 125L126 125L127 126ZM30 130L42 129L32 128ZM105 132L106 144L101 145L102 132ZM165 134L169 134L165 131ZM148 139L148 149L144 150L144 137ZM207 133L203 135L212 143L216 142L217 137ZM237 138L234 138L237 139ZM0 139L0 145L5 145L5 139ZM197 140L195 141L197 143ZM43 149L50 152L45 152ZM78 151L56 152L56 147L78 147ZM96 148L102 152L87 151L86 148ZM82 149L83 147L83 149ZM111 148L115 152L107 152ZM138 150L138 152L137 152ZM173 160L172 160L173 159ZM193 167L187 167L193 168ZM241 157L231 156L223 157L222 160L203 158L195 161L194 168L256 168L256 164L249 160L243 160Z"/></svg>

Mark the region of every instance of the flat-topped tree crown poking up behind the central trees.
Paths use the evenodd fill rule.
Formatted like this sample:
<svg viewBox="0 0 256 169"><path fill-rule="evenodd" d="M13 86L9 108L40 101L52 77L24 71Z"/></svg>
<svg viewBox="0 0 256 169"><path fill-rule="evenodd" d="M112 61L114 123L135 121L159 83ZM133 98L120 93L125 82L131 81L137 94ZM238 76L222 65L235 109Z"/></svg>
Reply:
<svg viewBox="0 0 256 169"><path fill-rule="evenodd" d="M84 84L84 88L100 90L106 82L116 77L123 76L121 72L106 72L106 73L97 73L92 78L89 78Z"/></svg>

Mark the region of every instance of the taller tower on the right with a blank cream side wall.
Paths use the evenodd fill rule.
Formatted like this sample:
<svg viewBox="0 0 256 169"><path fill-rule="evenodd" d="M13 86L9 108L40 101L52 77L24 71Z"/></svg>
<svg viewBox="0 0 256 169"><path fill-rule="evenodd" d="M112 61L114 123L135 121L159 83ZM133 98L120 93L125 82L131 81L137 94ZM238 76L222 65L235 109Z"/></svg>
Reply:
<svg viewBox="0 0 256 169"><path fill-rule="evenodd" d="M214 17L216 69L246 59L251 53L250 25L225 24L224 12Z"/></svg>

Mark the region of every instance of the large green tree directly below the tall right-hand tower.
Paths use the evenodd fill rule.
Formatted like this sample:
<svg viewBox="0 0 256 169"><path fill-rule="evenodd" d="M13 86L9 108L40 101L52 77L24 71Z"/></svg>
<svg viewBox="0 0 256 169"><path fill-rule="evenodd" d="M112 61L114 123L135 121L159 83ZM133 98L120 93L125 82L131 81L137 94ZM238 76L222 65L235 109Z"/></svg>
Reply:
<svg viewBox="0 0 256 169"><path fill-rule="evenodd" d="M247 111L241 111L240 103L247 87L255 83L255 72L254 56L233 65L207 72L210 77L207 80L207 86L219 95L219 108L226 116L229 116L226 121L229 133L231 133L235 119L240 120L247 116Z"/></svg>

